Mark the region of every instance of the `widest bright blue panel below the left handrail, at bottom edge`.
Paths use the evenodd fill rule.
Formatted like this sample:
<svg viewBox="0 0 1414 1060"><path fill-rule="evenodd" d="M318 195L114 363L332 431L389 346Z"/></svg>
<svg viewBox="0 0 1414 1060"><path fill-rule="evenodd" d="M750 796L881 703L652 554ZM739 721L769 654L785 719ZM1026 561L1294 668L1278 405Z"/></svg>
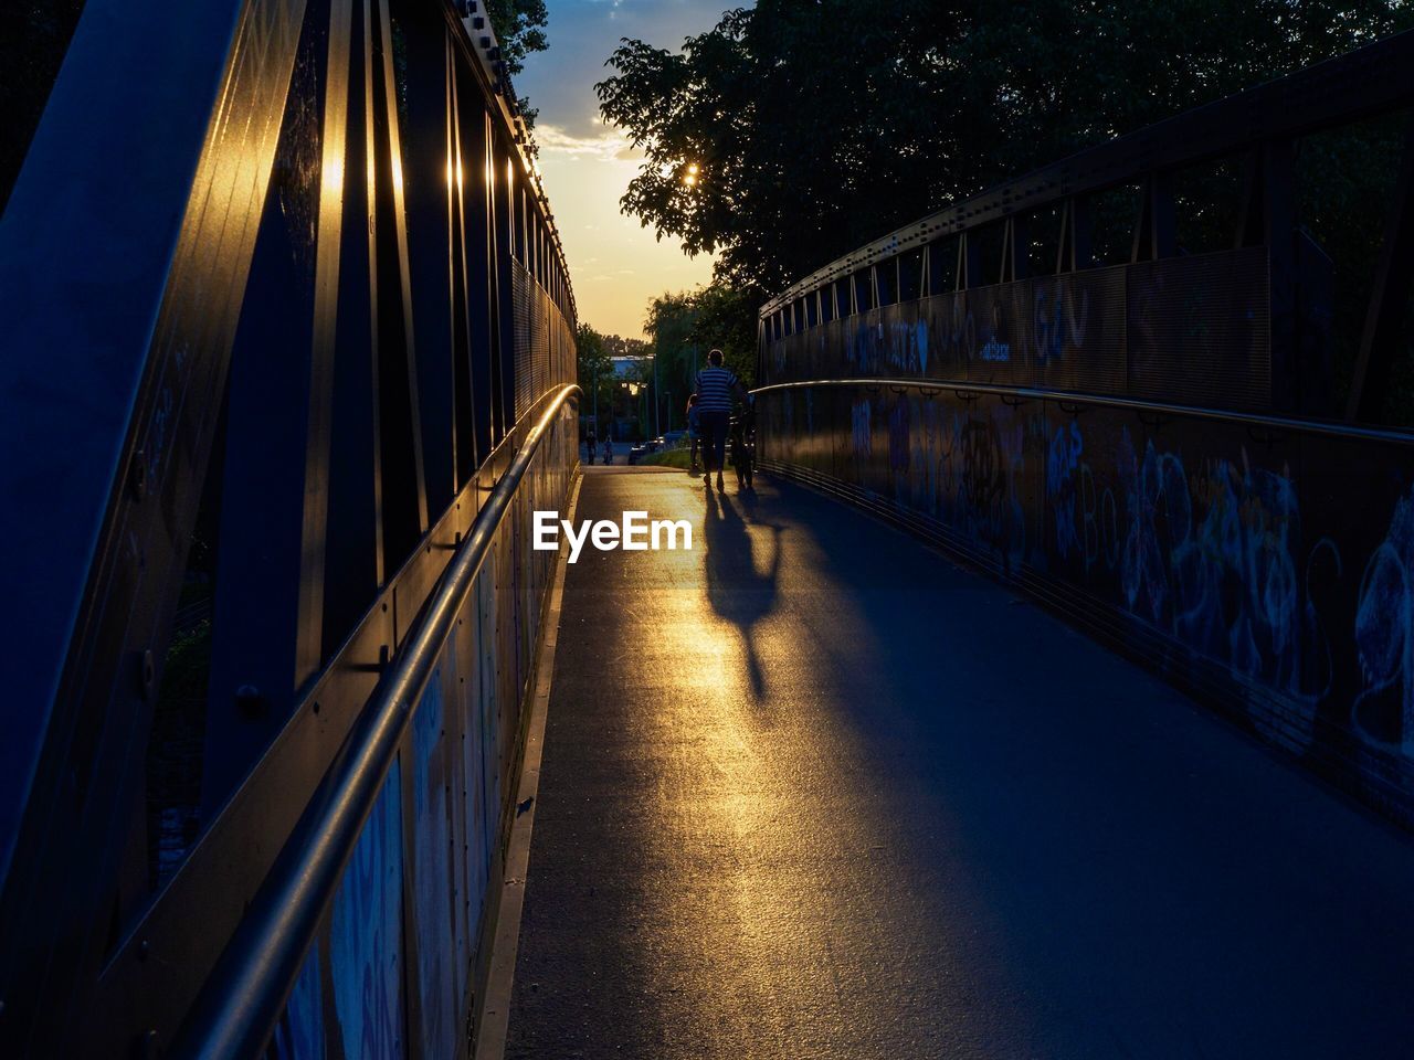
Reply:
<svg viewBox="0 0 1414 1060"><path fill-rule="evenodd" d="M334 1008L346 1060L404 1056L402 783L395 762L334 899Z"/></svg>

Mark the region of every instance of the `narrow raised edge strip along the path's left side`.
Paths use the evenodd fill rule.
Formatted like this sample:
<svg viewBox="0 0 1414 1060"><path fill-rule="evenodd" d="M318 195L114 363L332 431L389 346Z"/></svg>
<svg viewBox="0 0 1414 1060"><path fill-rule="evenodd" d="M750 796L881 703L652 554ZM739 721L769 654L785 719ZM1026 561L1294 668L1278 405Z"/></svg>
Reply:
<svg viewBox="0 0 1414 1060"><path fill-rule="evenodd" d="M573 520L580 503L583 475L575 475L566 517ZM550 685L554 678L554 649L560 639L560 603L564 598L564 575L568 551L560 550L550 587L544 642L536 661L534 695L530 700L530 721L526 728L525 759L520 763L520 784L516 790L516 815L510 824L505 868L501 873L501 895L496 902L496 929L491 943L491 964L486 987L477 1012L477 1040L474 1060L501 1060L506 1052L506 1029L510 1023L510 991L515 987L516 955L520 950L520 912L525 907L526 875L530 866L530 832L534 828L536 796L540 790L540 755L544 749L544 724L550 707ZM526 807L523 811L520 807Z"/></svg>

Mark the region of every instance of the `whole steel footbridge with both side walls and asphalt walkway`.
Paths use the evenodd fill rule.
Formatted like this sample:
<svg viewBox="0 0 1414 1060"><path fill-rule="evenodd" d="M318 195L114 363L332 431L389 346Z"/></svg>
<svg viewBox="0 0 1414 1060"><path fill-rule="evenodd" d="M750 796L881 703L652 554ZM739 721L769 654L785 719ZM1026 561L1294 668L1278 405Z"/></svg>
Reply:
<svg viewBox="0 0 1414 1060"><path fill-rule="evenodd" d="M718 489L578 466L475 4L89 0L0 220L4 1054L1407 1054L1414 126L1342 406L1295 160L1411 62L772 297Z"/></svg>

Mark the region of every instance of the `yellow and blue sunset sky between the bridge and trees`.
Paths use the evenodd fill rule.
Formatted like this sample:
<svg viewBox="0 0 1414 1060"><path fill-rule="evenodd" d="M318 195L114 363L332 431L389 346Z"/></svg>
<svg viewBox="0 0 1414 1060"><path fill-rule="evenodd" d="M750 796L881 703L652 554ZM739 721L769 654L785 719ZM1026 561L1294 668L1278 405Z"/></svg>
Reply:
<svg viewBox="0 0 1414 1060"><path fill-rule="evenodd" d="M711 259L655 239L618 201L641 155L600 124L594 82L621 37L677 49L715 25L731 0L547 0L550 48L526 59L516 92L540 109L536 140L550 208L564 242L580 321L636 338L649 300L711 278Z"/></svg>

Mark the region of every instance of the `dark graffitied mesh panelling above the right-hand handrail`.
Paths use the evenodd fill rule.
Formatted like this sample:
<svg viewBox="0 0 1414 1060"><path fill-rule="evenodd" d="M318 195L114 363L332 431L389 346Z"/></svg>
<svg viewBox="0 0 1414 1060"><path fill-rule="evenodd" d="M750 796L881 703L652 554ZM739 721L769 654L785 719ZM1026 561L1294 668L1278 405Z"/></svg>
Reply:
<svg viewBox="0 0 1414 1060"><path fill-rule="evenodd" d="M947 291L762 339L762 382L928 376L1219 408L1271 400L1263 247Z"/></svg>

